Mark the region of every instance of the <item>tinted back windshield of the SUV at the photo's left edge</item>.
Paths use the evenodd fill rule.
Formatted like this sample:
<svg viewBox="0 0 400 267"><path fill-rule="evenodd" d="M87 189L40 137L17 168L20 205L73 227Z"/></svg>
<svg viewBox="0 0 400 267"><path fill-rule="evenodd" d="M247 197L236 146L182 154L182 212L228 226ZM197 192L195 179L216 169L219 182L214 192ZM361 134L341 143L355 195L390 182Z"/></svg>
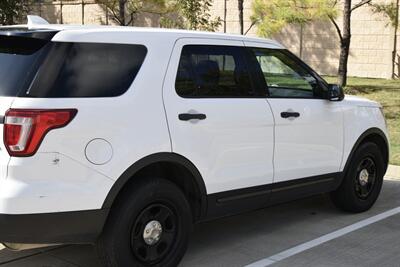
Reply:
<svg viewBox="0 0 400 267"><path fill-rule="evenodd" d="M0 36L0 96L26 92L46 51L46 41Z"/></svg>

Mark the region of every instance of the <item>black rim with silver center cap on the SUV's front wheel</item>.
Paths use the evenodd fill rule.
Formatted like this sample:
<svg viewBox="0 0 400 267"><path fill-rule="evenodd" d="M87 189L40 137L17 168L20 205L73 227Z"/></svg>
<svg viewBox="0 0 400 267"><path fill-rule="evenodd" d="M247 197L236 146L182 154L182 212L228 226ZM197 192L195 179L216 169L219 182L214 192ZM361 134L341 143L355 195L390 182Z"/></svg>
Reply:
<svg viewBox="0 0 400 267"><path fill-rule="evenodd" d="M374 189L376 180L376 165L371 157L364 158L357 167L355 191L360 199L367 199Z"/></svg>

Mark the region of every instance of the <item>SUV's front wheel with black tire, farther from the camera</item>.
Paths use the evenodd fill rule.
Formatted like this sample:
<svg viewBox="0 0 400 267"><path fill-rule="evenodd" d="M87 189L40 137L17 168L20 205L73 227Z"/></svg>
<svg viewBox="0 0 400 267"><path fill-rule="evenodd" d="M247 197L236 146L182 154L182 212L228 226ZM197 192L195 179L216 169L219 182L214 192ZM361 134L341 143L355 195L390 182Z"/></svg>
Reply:
<svg viewBox="0 0 400 267"><path fill-rule="evenodd" d="M363 170L364 175L362 174ZM385 163L375 143L364 143L355 151L342 184L331 193L336 207L348 212L370 209L382 188Z"/></svg>

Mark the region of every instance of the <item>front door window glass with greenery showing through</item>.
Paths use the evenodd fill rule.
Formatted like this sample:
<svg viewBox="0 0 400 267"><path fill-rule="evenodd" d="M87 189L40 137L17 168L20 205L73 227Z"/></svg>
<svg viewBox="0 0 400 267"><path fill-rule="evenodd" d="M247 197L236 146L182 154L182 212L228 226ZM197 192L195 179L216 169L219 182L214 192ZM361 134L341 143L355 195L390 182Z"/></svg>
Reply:
<svg viewBox="0 0 400 267"><path fill-rule="evenodd" d="M282 50L252 49L271 97L312 98L321 94L318 80Z"/></svg>

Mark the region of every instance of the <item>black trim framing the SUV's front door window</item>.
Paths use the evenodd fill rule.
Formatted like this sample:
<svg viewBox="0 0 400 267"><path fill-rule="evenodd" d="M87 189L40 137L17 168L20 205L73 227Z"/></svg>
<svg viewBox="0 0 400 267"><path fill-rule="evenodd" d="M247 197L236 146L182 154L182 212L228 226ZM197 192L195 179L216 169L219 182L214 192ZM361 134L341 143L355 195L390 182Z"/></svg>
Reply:
<svg viewBox="0 0 400 267"><path fill-rule="evenodd" d="M309 72L310 75L317 81L318 85L323 89L323 91L325 91L325 92L328 91L328 83L316 71L314 71L309 65L307 65L304 61L302 61L299 57L297 57L295 54L293 54L289 50L281 49L281 48L277 49L277 48L247 46L246 47L246 50L248 51L247 55L252 57L252 59L249 59L249 61L251 60L253 62L255 60L255 57L254 57L254 53L253 53L252 49L279 50L284 55L286 55L289 58L291 58L296 64L299 64L302 68L304 68L307 72ZM259 64L258 61L257 61L257 64ZM264 95L263 96L264 98L271 98L271 99L315 99L315 100L326 100L326 99L328 99L327 96L322 96L322 97L315 97L315 96L314 97L271 96L271 94L269 93L269 86L268 86L267 82L265 81L265 78L261 78L261 76L263 77L262 72L261 72L261 67L256 67L255 66L253 69L254 69L255 73L253 73L252 78L258 80L258 83L261 83L262 86L264 87L264 88L258 88L258 91L259 90L264 91L264 93L262 93ZM267 89L266 93L265 93L265 89ZM288 88L288 89L292 89L292 88Z"/></svg>

